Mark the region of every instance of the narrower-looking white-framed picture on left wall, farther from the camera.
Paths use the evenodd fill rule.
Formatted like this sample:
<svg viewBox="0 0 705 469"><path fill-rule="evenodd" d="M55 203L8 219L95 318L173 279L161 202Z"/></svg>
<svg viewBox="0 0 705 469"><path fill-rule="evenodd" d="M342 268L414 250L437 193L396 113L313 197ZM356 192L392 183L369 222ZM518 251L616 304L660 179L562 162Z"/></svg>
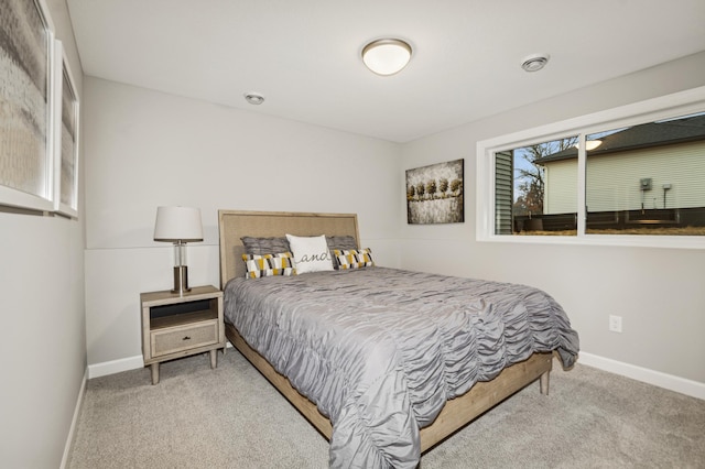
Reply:
<svg viewBox="0 0 705 469"><path fill-rule="evenodd" d="M79 102L76 81L61 41L55 44L54 210L78 216Z"/></svg>

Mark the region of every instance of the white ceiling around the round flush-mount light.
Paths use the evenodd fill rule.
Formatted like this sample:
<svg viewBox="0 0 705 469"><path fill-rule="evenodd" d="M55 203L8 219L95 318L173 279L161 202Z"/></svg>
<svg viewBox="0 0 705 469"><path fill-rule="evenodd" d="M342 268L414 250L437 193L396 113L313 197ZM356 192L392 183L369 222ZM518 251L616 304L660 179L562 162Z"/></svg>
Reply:
<svg viewBox="0 0 705 469"><path fill-rule="evenodd" d="M408 142L705 51L703 0L68 0L86 75ZM379 37L413 47L369 72ZM547 53L543 70L524 57ZM265 97L259 106L243 94Z"/></svg>

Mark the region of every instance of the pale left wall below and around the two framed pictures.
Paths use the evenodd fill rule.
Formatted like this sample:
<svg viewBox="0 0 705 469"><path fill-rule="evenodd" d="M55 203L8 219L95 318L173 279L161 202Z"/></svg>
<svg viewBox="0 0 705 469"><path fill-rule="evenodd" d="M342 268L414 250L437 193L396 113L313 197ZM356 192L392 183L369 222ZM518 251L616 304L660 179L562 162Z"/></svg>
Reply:
<svg viewBox="0 0 705 469"><path fill-rule="evenodd" d="M47 3L80 96L66 4ZM83 192L79 211L69 220L0 209L3 467L62 463L86 372Z"/></svg>

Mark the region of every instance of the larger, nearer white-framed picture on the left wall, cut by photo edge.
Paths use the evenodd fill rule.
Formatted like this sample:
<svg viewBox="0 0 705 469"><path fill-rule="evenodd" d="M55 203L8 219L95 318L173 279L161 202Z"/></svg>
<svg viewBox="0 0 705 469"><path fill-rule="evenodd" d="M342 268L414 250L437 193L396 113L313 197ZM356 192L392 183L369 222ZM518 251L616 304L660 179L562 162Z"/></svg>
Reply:
<svg viewBox="0 0 705 469"><path fill-rule="evenodd" d="M0 205L55 207L54 24L43 0L1 0Z"/></svg>

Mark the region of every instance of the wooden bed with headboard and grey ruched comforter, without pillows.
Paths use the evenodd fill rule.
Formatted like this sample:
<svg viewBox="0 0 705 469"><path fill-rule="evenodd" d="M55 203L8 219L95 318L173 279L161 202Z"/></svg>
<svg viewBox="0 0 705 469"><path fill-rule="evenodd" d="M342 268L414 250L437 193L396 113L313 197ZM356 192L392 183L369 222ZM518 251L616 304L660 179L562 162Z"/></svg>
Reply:
<svg viewBox="0 0 705 469"><path fill-rule="evenodd" d="M352 238L362 248L354 214L219 210L218 223L226 335L330 441L332 467L414 468L423 451L524 386L539 381L540 392L547 394L554 355L564 368L577 357L577 334L561 307L543 292L523 285L381 266L246 279L243 237L325 234L329 239ZM406 286L408 280L412 286ZM427 290L436 283L452 297L436 298L436 293ZM470 287L485 292L485 297L473 295L464 304L460 295ZM533 313L528 314L524 304L492 299L506 290L541 305L530 305L542 309L536 313L540 318L532 319ZM351 296L360 291L367 296ZM419 295L419 305L409 299L415 291L424 292ZM297 295L301 303L290 301ZM509 313L497 306L505 303ZM355 320L366 324L355 325L348 316L343 319L346 308L354 310L350 316L356 316ZM432 321L404 316L424 308L434 310ZM436 310L443 320L449 318L449 325L441 325ZM503 317L512 319L505 321ZM326 318L332 318L326 326L329 329L318 331L318 320ZM377 323L386 321L392 326L378 330ZM414 334L422 338L398 335L401 332L393 324L399 323L404 323L404 328L415 327ZM438 337L443 340L436 343ZM463 340L471 341L473 347ZM302 350L296 348L300 346ZM390 347L394 350L389 351ZM340 349L349 355L344 356ZM429 358L436 355L443 364ZM416 369L423 372L419 374ZM448 378L456 369L460 378ZM332 374L322 378L319 372ZM431 378L437 374L441 378ZM443 381L441 391L429 384L433 380Z"/></svg>

